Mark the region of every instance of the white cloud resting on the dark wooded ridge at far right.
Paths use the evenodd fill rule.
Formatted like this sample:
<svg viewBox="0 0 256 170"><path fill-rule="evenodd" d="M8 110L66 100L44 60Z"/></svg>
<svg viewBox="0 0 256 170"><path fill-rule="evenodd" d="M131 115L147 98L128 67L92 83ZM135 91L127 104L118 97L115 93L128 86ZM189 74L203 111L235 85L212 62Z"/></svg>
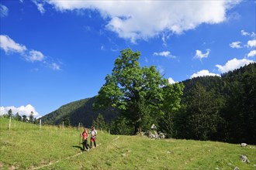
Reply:
<svg viewBox="0 0 256 170"><path fill-rule="evenodd" d="M254 63L254 61L249 59L231 59L227 61L227 63L224 66L221 66L219 64L216 65L216 67L219 68L220 73L226 73L228 71L239 69L241 66L245 66L249 63Z"/></svg>

